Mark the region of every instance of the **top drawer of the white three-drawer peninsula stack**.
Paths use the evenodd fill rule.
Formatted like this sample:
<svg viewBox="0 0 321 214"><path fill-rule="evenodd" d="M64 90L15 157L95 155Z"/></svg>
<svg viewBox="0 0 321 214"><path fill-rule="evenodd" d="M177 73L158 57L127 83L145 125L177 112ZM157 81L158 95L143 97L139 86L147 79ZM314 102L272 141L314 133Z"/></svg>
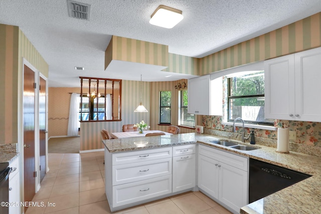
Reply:
<svg viewBox="0 0 321 214"><path fill-rule="evenodd" d="M172 147L146 149L112 154L112 164L125 164L172 157Z"/></svg>

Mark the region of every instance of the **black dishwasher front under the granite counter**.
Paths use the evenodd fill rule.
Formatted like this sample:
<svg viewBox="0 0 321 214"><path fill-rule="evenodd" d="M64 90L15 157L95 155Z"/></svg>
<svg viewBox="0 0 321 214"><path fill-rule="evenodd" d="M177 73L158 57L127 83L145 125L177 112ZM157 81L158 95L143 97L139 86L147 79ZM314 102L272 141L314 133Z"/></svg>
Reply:
<svg viewBox="0 0 321 214"><path fill-rule="evenodd" d="M249 203L311 175L250 158Z"/></svg>

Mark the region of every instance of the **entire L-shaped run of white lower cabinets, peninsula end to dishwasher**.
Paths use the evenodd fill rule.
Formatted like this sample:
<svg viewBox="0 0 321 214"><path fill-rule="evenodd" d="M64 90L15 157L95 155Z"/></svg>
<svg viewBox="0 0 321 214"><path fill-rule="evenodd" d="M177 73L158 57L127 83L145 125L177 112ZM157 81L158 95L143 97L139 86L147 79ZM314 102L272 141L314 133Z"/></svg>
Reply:
<svg viewBox="0 0 321 214"><path fill-rule="evenodd" d="M248 202L248 158L204 145L196 149L195 144L119 153L105 149L110 210L193 190L197 177L202 192L238 213Z"/></svg>

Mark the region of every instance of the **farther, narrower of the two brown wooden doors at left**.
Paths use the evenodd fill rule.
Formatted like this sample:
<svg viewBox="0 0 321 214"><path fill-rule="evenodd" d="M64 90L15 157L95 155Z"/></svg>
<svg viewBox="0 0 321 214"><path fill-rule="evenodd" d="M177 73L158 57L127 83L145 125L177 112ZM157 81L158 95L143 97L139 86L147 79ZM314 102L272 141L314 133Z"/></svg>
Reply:
<svg viewBox="0 0 321 214"><path fill-rule="evenodd" d="M39 156L40 182L46 175L46 80L39 82Z"/></svg>

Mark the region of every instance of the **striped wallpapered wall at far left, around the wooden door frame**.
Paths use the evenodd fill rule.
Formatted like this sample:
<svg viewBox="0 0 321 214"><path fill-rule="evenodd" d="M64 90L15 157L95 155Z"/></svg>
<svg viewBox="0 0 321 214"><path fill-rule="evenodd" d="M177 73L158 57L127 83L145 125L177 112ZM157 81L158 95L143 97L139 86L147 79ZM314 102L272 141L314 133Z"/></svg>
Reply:
<svg viewBox="0 0 321 214"><path fill-rule="evenodd" d="M23 58L48 77L49 66L17 26L0 24L0 143L17 143L19 102L22 103ZM22 107L21 107L22 109ZM21 115L22 116L22 115Z"/></svg>

